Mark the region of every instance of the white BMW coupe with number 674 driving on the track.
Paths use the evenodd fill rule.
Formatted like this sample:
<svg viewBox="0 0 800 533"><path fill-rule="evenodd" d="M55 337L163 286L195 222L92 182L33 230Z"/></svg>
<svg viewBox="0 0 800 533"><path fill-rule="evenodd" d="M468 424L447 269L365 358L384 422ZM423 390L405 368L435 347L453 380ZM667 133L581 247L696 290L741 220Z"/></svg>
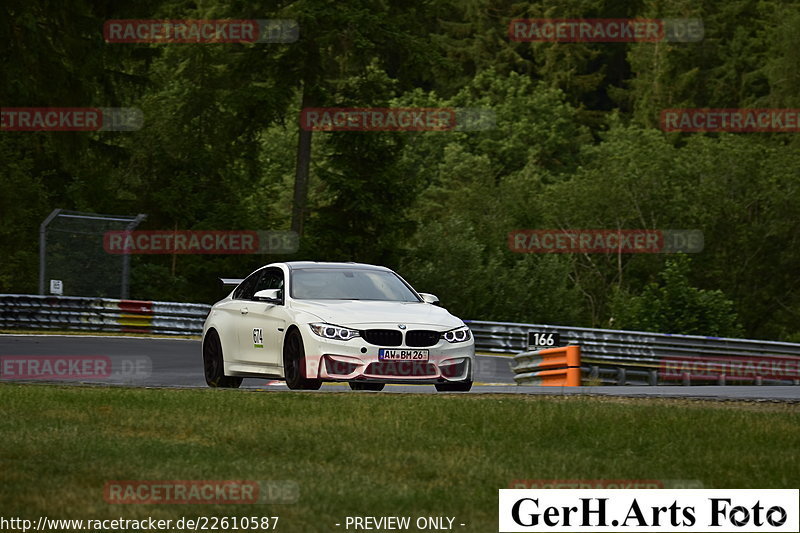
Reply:
<svg viewBox="0 0 800 533"><path fill-rule="evenodd" d="M359 263L274 263L214 304L203 327L211 387L245 377L291 389L323 381L354 390L387 383L472 387L475 341L460 319L388 268Z"/></svg>

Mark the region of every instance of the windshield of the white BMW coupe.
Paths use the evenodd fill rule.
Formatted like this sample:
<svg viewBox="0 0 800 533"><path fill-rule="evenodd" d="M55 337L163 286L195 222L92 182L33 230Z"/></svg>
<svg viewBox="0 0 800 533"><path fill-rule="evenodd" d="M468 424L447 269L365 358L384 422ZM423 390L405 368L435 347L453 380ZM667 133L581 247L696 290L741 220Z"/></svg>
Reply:
<svg viewBox="0 0 800 533"><path fill-rule="evenodd" d="M294 270L291 294L299 300L420 301L393 272L355 268Z"/></svg>

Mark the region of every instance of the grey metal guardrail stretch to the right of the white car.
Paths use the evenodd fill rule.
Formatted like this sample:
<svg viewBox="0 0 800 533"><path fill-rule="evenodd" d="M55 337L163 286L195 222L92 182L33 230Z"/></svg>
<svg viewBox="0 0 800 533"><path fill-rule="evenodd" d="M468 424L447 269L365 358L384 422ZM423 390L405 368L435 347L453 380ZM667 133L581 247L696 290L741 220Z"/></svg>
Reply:
<svg viewBox="0 0 800 533"><path fill-rule="evenodd" d="M583 381L588 384L800 384L800 344L795 343L466 322L479 352L517 354L527 350L528 332L558 333L562 344L581 347ZM759 368L760 361L768 362L768 368ZM722 371L709 371L712 367Z"/></svg>

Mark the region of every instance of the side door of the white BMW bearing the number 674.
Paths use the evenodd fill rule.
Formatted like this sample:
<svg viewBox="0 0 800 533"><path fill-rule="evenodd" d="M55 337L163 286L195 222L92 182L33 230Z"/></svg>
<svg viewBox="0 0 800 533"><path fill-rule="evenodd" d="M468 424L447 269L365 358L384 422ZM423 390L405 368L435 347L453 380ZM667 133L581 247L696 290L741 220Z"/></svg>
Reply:
<svg viewBox="0 0 800 533"><path fill-rule="evenodd" d="M279 289L280 303L257 301L255 293ZM253 292L249 293L247 312L242 315L240 347L248 363L278 367L283 363L282 341L289 320L284 302L284 275L277 267L262 269Z"/></svg>

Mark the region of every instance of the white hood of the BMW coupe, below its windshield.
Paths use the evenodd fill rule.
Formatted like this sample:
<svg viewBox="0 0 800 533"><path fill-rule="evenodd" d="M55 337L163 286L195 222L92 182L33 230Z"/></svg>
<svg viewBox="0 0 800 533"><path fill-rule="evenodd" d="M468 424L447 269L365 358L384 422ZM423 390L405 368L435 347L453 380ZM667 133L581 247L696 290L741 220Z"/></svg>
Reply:
<svg viewBox="0 0 800 533"><path fill-rule="evenodd" d="M320 321L356 329L378 324L406 324L433 329L456 328L461 320L446 309L417 302L367 300L292 300L292 308L319 317Z"/></svg>

